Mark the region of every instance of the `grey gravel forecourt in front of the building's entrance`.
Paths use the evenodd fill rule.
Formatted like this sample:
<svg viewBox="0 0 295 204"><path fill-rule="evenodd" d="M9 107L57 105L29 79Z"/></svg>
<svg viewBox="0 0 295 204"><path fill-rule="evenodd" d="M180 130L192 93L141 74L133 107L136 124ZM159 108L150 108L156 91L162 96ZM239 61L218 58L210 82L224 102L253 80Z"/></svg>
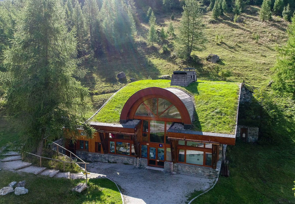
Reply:
<svg viewBox="0 0 295 204"><path fill-rule="evenodd" d="M195 190L210 188L215 179L164 173L132 165L93 162L87 171L106 175L122 188L124 203L185 203Z"/></svg>

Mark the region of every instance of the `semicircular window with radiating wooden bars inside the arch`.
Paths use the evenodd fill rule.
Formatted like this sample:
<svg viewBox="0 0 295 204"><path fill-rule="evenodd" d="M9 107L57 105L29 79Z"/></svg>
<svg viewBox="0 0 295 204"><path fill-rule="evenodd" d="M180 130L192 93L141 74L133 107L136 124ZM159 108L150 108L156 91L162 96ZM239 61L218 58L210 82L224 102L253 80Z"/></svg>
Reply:
<svg viewBox="0 0 295 204"><path fill-rule="evenodd" d="M137 108L135 116L181 119L178 109L170 101L162 98L143 101Z"/></svg>

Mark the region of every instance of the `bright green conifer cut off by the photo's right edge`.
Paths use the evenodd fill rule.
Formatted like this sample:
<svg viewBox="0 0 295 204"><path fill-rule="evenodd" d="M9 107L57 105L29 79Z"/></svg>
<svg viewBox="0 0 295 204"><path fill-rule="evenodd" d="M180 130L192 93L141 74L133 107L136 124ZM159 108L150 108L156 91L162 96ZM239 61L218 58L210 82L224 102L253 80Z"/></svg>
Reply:
<svg viewBox="0 0 295 204"><path fill-rule="evenodd" d="M295 15L291 19L292 23L288 28L287 45L279 49L279 57L273 68L275 73L274 89L293 94L295 99Z"/></svg>

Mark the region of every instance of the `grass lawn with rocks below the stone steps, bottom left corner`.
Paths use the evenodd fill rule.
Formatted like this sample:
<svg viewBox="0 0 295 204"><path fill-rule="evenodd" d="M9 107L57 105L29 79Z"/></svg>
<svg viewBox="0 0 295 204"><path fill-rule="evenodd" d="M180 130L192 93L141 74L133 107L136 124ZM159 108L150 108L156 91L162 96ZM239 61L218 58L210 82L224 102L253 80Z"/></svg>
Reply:
<svg viewBox="0 0 295 204"><path fill-rule="evenodd" d="M1 196L0 203L122 203L115 183L108 179L90 179L89 188L81 194L71 189L85 180L71 180L36 176L28 173L1 171L0 188L11 181L26 180L29 193L17 196L14 193Z"/></svg>

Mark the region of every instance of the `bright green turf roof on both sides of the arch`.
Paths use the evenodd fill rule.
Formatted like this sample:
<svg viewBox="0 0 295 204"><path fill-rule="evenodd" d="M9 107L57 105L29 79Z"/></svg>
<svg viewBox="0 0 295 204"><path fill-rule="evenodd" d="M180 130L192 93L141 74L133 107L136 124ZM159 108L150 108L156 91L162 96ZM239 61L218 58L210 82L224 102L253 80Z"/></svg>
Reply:
<svg viewBox="0 0 295 204"><path fill-rule="evenodd" d="M119 123L126 101L147 87L170 87L170 80L140 80L128 84L113 96L91 121ZM193 129L203 132L234 134L239 96L239 83L198 81L178 87L194 96L196 112Z"/></svg>

